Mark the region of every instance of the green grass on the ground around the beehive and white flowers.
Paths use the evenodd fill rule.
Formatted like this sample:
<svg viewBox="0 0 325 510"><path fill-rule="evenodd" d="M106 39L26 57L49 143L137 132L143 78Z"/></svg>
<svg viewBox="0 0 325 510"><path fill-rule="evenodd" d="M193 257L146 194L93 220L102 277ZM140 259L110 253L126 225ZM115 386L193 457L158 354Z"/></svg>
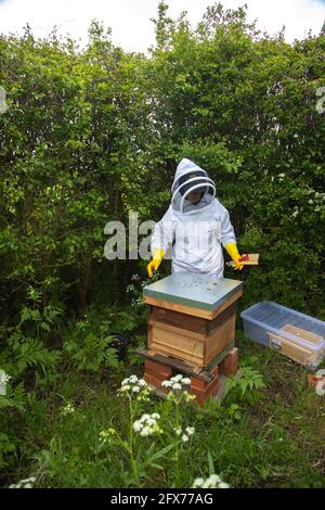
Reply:
<svg viewBox="0 0 325 510"><path fill-rule="evenodd" d="M239 397L233 391L221 407L209 403L203 409L192 405L183 410L196 432L182 450L181 486L207 477L212 466L233 487L324 487L325 398L308 384L306 369L247 341L240 331L237 340L242 359L262 374L266 387L259 398L256 392ZM2 485L36 475L38 487L132 486L126 452L113 445L103 454L99 433L114 426L128 435L128 406L117 388L134 372L141 375L140 364L130 368L126 362L102 377L65 368L51 391L40 387L28 394L24 412L2 413L1 428L16 438L15 452L8 455L2 470ZM67 403L76 412L63 416ZM172 420L168 401L155 398L146 410L159 412L165 423ZM140 458L152 441L141 439ZM174 485L172 451L159 466L143 473L143 486Z"/></svg>

